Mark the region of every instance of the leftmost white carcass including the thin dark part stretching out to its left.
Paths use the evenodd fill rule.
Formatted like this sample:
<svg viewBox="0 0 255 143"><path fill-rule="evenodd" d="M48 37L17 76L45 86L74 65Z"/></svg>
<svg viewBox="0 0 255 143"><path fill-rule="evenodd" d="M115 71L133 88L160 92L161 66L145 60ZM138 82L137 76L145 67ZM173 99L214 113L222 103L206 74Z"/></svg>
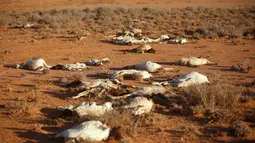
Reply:
<svg viewBox="0 0 255 143"><path fill-rule="evenodd" d="M31 59L28 60L26 63L23 64L5 64L5 67L12 67L12 68L21 68L21 69L27 69L27 70L47 70L50 69L51 66L46 64L46 62L42 58L38 59Z"/></svg>

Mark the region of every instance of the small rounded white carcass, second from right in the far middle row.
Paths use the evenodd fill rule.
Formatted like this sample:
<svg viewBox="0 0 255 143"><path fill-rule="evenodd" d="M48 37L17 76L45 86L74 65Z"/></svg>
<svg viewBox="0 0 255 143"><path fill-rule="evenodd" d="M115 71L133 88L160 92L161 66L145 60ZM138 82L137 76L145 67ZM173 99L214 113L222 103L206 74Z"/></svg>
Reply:
<svg viewBox="0 0 255 143"><path fill-rule="evenodd" d="M161 65L153 62L141 62L135 65L135 69L137 70L145 70L148 72L157 72L159 69L161 69Z"/></svg>

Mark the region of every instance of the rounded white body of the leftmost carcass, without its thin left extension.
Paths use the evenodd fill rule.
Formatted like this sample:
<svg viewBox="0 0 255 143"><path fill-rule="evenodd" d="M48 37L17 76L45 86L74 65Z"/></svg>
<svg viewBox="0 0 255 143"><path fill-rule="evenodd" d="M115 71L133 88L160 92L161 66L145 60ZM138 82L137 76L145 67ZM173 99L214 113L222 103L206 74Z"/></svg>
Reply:
<svg viewBox="0 0 255 143"><path fill-rule="evenodd" d="M47 65L42 58L28 60L26 63L21 64L19 67L28 70L44 70L51 68L51 66Z"/></svg>

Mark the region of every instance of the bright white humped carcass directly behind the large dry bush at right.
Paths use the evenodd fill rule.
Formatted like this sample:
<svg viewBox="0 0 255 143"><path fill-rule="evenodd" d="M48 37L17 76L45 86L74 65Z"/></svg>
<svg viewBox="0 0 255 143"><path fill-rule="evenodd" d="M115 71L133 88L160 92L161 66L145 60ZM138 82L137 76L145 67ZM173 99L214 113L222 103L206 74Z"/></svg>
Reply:
<svg viewBox="0 0 255 143"><path fill-rule="evenodd" d="M208 78L205 75L202 75L198 72L190 72L184 76L181 76L175 80L171 81L165 81L165 82L154 82L153 84L155 85L174 85L177 87L186 87L189 85L194 85L194 84L205 84L205 83L210 83Z"/></svg>

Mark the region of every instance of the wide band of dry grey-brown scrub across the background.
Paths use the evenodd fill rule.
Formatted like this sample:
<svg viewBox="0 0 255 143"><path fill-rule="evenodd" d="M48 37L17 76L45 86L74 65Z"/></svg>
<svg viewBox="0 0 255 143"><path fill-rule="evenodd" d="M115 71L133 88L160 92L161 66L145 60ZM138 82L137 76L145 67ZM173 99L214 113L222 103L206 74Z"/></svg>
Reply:
<svg viewBox="0 0 255 143"><path fill-rule="evenodd" d="M0 13L0 24L14 27L34 23L38 31L51 33L85 31L104 33L112 30L140 28L146 34L153 31L190 38L254 38L255 7L185 9L163 8L111 8L98 7L33 11L25 13ZM74 27L79 27L75 29ZM85 32L86 33L86 32Z"/></svg>

